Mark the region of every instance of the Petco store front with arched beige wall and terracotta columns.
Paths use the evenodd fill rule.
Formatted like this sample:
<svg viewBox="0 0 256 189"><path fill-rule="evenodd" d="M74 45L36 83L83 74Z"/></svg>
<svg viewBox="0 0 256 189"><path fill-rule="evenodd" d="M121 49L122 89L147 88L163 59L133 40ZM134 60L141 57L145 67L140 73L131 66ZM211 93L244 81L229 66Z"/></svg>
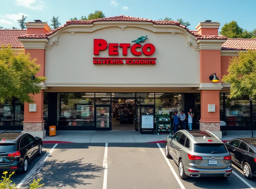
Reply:
<svg viewBox="0 0 256 189"><path fill-rule="evenodd" d="M180 98L179 105L163 108L170 112L184 109L186 113L190 108L199 112L200 104L198 129L221 135L220 94L228 93L230 86L213 83L209 76L227 74L228 61L239 50L228 49L229 39L218 36L219 23L201 22L197 31L190 31L175 21L118 16L68 21L56 30L44 22L26 26L27 34L19 41L41 65L38 76L47 80L41 94L35 95L36 112L24 105L24 132L44 136L45 125L61 130L111 130L112 116L108 127L102 127L97 123L98 111L111 115L115 96L129 94L135 109L151 107L154 115L162 111L157 106L164 95ZM209 105L214 110L208 110ZM86 121L77 120L76 115L73 122L73 109ZM139 130L137 124L134 129Z"/></svg>

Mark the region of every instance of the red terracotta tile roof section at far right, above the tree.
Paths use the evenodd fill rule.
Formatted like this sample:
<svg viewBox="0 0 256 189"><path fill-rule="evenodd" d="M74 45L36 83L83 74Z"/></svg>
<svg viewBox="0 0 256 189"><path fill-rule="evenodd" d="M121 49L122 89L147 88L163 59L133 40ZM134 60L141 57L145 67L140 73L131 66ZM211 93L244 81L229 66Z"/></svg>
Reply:
<svg viewBox="0 0 256 189"><path fill-rule="evenodd" d="M221 50L256 50L256 39L228 39Z"/></svg>

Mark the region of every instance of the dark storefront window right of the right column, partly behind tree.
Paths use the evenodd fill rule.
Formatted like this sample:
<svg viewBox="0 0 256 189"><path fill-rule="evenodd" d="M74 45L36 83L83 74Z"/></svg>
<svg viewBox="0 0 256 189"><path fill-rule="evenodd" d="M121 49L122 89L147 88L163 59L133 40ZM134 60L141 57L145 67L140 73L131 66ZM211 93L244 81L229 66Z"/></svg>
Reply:
<svg viewBox="0 0 256 189"><path fill-rule="evenodd" d="M229 94L225 94L225 109L228 126L250 125L250 100L247 96L230 99Z"/></svg>

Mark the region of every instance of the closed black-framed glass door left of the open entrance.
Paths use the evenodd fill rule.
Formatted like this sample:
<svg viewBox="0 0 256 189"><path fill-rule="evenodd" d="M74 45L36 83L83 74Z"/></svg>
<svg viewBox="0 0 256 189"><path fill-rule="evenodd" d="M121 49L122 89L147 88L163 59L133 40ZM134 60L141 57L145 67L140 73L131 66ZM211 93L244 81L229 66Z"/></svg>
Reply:
<svg viewBox="0 0 256 189"><path fill-rule="evenodd" d="M110 105L96 105L96 130L111 130Z"/></svg>

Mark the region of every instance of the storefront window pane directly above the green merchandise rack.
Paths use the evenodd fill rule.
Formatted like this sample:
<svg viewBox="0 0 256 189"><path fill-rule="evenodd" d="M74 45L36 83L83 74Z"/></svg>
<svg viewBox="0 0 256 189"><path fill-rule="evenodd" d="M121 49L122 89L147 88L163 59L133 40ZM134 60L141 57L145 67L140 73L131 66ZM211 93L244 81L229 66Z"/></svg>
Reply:
<svg viewBox="0 0 256 189"><path fill-rule="evenodd" d="M183 109L183 94L179 93L156 93L156 115L173 115L175 111Z"/></svg>

